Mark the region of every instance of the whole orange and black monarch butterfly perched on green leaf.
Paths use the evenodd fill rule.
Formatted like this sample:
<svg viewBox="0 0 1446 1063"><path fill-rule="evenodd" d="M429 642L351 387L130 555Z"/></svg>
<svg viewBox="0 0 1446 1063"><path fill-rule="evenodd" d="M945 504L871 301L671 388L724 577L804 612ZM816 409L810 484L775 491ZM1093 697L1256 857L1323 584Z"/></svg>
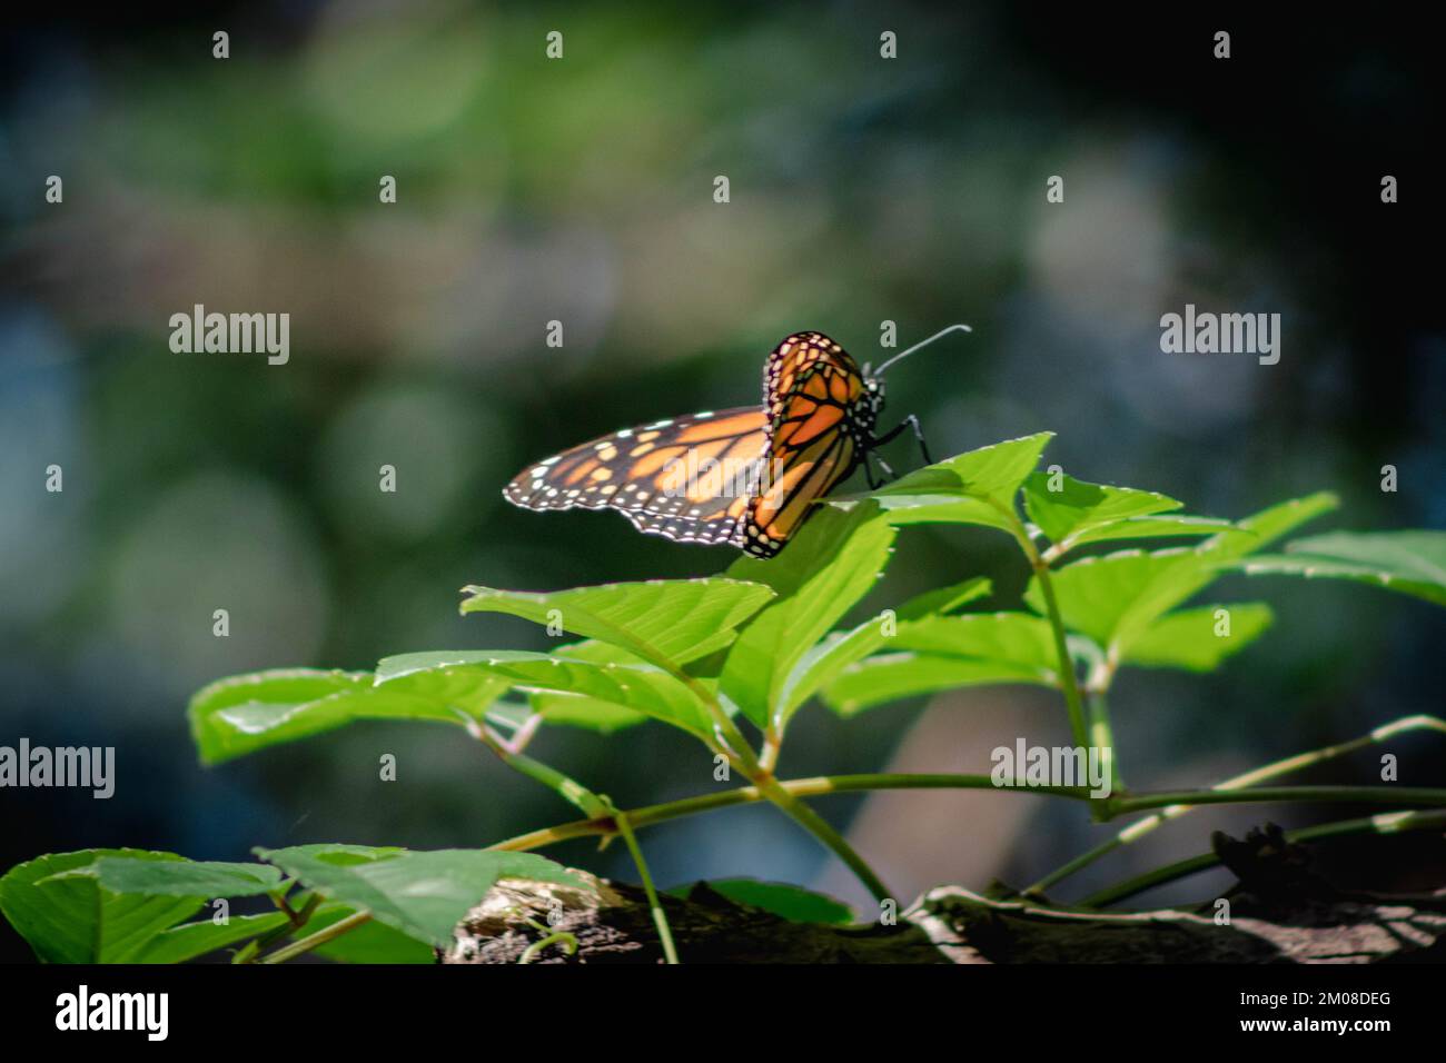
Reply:
<svg viewBox="0 0 1446 1063"><path fill-rule="evenodd" d="M870 370L823 333L794 333L763 364L763 405L707 411L623 428L518 473L503 489L523 509L617 509L638 531L675 542L726 542L774 557L827 495L862 463L878 486L873 453L914 430L912 414L875 435L884 370L950 325Z"/></svg>

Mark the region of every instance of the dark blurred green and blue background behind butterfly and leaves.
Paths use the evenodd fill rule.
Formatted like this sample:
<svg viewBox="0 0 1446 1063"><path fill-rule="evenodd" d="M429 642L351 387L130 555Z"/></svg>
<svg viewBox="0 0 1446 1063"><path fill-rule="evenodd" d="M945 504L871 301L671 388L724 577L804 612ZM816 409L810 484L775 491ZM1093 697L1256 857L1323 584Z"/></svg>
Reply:
<svg viewBox="0 0 1446 1063"><path fill-rule="evenodd" d="M26 17L26 16L22 16ZM483 845L573 819L450 727L359 725L217 769L184 707L262 667L369 668L414 649L544 648L455 615L457 589L722 570L727 550L615 515L535 515L500 487L630 424L758 401L778 338L820 328L891 372L936 454L1044 428L1073 474L1244 516L1329 487L1312 526L1446 526L1434 38L1358 20L1063 14L1028 6L165 4L14 23L0 54L0 743L113 745L117 793L0 791L0 868L100 845L241 859L315 840ZM211 33L231 58L211 58ZM544 56L558 29L565 58ZM1233 58L1210 56L1216 29ZM879 58L879 33L899 58ZM45 179L64 176L62 205ZM399 201L377 201L380 175ZM714 175L732 202L713 202ZM1047 204L1050 175L1064 204ZM1384 174L1401 202L1379 201ZM1426 263L1413 250L1430 249ZM174 354L168 318L286 311L291 362ZM1163 354L1158 318L1283 315L1283 356ZM544 346L561 320L565 346ZM891 445L895 466L917 458ZM895 450L897 448L897 450ZM65 490L45 492L45 467ZM1400 490L1379 490L1382 464ZM395 495L377 467L398 469ZM889 587L986 573L1012 545L905 529ZM1135 787L1200 785L1439 712L1440 610L1356 586L1246 581L1275 629L1209 678L1125 673ZM214 609L231 635L211 633ZM988 769L1057 700L962 691L843 723L814 707L782 769ZM709 791L649 725L535 749L620 804ZM380 782L395 754L399 778ZM1442 743L1401 739L1440 784ZM1320 775L1374 781L1374 755ZM1105 836L999 794L830 798L901 894L1022 884ZM1355 810L1196 813L1061 895L1206 846L1209 829ZM651 830L662 882L756 875L865 895L791 823L743 808ZM626 855L552 856L630 876ZM1439 885L1439 837L1340 843L1326 866ZM1197 878L1150 900L1200 898ZM0 956L29 952L9 927Z"/></svg>

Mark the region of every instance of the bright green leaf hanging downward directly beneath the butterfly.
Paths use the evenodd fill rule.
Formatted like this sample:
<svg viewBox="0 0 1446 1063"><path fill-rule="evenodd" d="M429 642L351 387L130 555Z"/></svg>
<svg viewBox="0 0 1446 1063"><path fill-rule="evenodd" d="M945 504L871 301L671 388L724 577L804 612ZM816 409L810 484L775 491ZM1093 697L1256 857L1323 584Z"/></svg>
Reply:
<svg viewBox="0 0 1446 1063"><path fill-rule="evenodd" d="M875 584L888 564L894 528L872 503L826 508L772 560L743 557L730 576L768 583L777 599L729 651L722 693L759 727L784 707L798 661Z"/></svg>

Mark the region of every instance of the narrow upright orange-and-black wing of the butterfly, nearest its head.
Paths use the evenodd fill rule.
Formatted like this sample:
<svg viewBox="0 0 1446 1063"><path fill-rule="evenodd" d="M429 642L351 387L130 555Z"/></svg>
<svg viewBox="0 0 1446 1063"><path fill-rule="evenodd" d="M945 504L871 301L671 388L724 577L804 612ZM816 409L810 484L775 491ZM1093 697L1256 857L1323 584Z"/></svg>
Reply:
<svg viewBox="0 0 1446 1063"><path fill-rule="evenodd" d="M790 336L769 354L763 480L743 526L749 554L772 557L782 550L817 499L859 464L863 388L857 363L823 333Z"/></svg>

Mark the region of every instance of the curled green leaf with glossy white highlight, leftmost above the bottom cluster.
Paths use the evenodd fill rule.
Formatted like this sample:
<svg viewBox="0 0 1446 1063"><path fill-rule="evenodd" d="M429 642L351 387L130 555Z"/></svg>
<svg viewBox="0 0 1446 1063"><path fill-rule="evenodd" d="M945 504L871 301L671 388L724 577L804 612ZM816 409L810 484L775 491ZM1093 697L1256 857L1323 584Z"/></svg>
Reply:
<svg viewBox="0 0 1446 1063"><path fill-rule="evenodd" d="M370 673L282 668L233 675L191 697L191 735L205 764L311 738L354 720L431 720L460 725L457 709L486 712L508 684L470 677L470 686L418 683L379 691Z"/></svg>

